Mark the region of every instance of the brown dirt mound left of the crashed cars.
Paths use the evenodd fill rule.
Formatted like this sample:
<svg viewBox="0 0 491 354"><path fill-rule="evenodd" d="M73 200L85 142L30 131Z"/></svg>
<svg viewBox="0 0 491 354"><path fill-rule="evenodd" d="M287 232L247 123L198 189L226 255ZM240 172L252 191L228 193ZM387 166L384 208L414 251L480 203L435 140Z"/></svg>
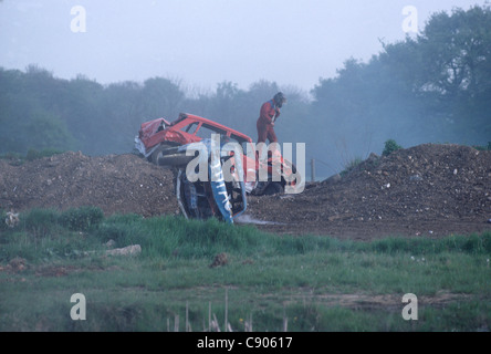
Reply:
<svg viewBox="0 0 491 354"><path fill-rule="evenodd" d="M65 153L11 166L0 160L0 209L96 206L106 215L175 214L173 174L136 155Z"/></svg>

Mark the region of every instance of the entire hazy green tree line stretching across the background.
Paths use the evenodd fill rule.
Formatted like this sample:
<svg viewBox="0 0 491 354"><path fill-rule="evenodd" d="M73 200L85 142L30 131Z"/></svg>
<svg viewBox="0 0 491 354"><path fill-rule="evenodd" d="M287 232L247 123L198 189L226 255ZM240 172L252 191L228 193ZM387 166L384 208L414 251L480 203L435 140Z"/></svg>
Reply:
<svg viewBox="0 0 491 354"><path fill-rule="evenodd" d="M83 75L62 80L36 65L0 67L0 154L43 148L128 153L143 122L173 121L180 112L255 139L260 106L278 91L289 100L275 127L280 140L306 143L307 159L323 162L325 174L382 152L389 138L405 147L488 144L490 7L433 13L418 35L383 43L367 62L348 59L335 77L320 79L310 96L269 81L248 90L222 82L212 92L199 92L159 76L102 85Z"/></svg>

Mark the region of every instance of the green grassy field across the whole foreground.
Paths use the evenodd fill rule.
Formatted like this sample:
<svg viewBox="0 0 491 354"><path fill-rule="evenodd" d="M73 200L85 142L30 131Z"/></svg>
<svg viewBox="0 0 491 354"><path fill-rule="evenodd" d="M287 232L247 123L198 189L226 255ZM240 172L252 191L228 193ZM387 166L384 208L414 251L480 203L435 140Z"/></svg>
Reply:
<svg viewBox="0 0 491 354"><path fill-rule="evenodd" d="M142 253L106 256L109 240ZM228 263L210 268L222 252ZM234 331L251 319L254 331L285 320L289 331L489 331L490 258L491 232L357 242L34 209L0 228L0 331L174 331L177 319L185 331L186 312L203 331L210 308L222 330L227 310ZM70 317L74 293L86 298L86 321ZM418 296L418 321L401 317L405 293Z"/></svg>

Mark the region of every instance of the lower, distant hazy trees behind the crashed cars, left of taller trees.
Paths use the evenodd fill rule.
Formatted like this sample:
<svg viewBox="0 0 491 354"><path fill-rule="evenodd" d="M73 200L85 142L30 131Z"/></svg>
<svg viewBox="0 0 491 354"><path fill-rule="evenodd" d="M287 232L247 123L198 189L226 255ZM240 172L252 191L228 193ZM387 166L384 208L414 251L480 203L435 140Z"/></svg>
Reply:
<svg viewBox="0 0 491 354"><path fill-rule="evenodd" d="M289 126L307 117L309 104L300 90L285 88L289 108L282 122ZM35 65L25 72L0 67L0 153L23 155L44 148L80 149L88 155L128 153L142 123L158 117L174 121L180 112L211 118L255 138L259 108L279 90L267 81L252 84L249 91L222 82L216 92L203 95L185 92L178 81L164 77L103 86L83 75L56 79ZM300 142L294 133L285 131L282 139Z"/></svg>

